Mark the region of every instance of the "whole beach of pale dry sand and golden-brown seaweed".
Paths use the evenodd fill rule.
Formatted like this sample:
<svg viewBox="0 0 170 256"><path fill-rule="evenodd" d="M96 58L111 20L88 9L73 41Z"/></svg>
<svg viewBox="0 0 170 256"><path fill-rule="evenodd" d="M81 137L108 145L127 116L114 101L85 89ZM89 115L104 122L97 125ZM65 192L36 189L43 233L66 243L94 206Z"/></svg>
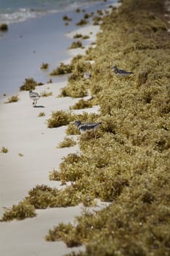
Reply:
<svg viewBox="0 0 170 256"><path fill-rule="evenodd" d="M169 255L167 4L121 1L101 26L66 26L68 45L89 36L61 50L71 75L45 78L36 106L15 87L18 102L1 97L1 255ZM78 120L99 127L80 135Z"/></svg>

